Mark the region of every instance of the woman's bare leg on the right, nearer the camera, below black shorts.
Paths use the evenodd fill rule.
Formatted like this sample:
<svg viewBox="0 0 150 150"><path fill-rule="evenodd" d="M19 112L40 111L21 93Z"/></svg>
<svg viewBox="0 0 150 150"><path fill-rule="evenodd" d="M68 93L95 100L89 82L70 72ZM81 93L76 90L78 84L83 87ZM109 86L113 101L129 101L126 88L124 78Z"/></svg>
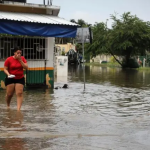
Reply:
<svg viewBox="0 0 150 150"><path fill-rule="evenodd" d="M16 96L17 96L17 110L19 111L21 109L21 105L23 102L23 85L16 83L15 91L16 91Z"/></svg>

